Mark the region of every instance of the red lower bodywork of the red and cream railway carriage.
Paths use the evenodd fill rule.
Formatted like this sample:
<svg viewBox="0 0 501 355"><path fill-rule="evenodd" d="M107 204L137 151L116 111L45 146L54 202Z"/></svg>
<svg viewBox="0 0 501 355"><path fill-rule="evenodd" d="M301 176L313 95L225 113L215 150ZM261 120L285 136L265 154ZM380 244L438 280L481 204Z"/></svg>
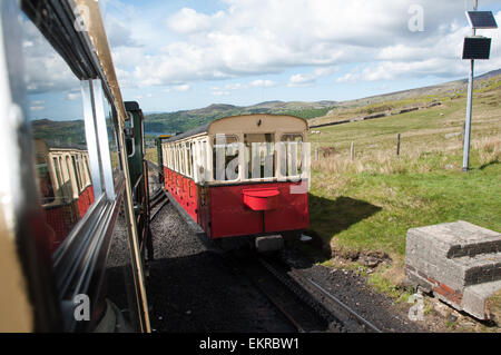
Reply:
<svg viewBox="0 0 501 355"><path fill-rule="evenodd" d="M209 238L310 227L308 194L291 194L291 187L296 183L204 187L166 167L164 177L166 191L200 225ZM189 195L189 187L193 196Z"/></svg>

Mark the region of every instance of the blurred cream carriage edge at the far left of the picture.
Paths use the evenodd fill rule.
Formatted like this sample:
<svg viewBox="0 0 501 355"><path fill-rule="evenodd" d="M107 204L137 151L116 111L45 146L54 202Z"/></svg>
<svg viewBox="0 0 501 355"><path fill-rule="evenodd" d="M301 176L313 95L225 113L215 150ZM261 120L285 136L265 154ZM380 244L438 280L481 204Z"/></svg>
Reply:
<svg viewBox="0 0 501 355"><path fill-rule="evenodd" d="M14 7L9 1L6 7ZM3 13L1 13L3 14ZM16 229L19 221L18 211L22 208L26 196L22 189L21 151L16 132L24 117L19 106L13 102L11 82L7 66L6 42L11 34L4 36L0 23L0 333L32 332L35 329L33 310L28 296L28 287L17 250Z"/></svg>

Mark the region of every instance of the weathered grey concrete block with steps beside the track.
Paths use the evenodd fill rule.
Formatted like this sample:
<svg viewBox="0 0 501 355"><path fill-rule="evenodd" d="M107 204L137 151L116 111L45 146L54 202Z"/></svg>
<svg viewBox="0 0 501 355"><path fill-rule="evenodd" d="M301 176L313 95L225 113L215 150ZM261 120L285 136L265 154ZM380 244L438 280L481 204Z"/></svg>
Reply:
<svg viewBox="0 0 501 355"><path fill-rule="evenodd" d="M412 228L405 250L407 284L484 319L489 293L500 289L500 233L466 221Z"/></svg>

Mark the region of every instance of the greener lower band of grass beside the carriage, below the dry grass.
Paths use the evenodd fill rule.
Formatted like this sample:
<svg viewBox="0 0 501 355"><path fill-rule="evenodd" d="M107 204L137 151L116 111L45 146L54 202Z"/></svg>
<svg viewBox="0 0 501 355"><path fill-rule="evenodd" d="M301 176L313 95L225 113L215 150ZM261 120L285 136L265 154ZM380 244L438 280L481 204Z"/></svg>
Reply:
<svg viewBox="0 0 501 355"><path fill-rule="evenodd" d="M312 228L336 247L402 257L409 228L464 219L501 230L500 176L499 162L469 174L350 174L325 191L328 176L315 171Z"/></svg>

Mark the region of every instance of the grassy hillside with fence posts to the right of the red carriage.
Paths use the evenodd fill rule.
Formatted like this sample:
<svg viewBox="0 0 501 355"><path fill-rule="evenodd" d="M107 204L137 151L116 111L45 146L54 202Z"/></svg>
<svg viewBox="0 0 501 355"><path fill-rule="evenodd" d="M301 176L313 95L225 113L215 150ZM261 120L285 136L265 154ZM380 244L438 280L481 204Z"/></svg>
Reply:
<svg viewBox="0 0 501 355"><path fill-rule="evenodd" d="M500 83L501 77L488 78L475 90L468 174L461 171L464 91L452 99L443 93L415 97L412 100L441 100L442 106L318 128L320 135L310 136L313 151L316 147L321 155L335 151L313 158L310 205L311 228L334 256L347 260L360 252L389 254L392 265L380 266L370 280L392 293L403 278L409 228L463 219L501 231ZM384 105L401 107L407 101ZM346 108L340 114L366 109ZM336 258L326 263L335 264ZM360 267L356 259L351 265Z"/></svg>

